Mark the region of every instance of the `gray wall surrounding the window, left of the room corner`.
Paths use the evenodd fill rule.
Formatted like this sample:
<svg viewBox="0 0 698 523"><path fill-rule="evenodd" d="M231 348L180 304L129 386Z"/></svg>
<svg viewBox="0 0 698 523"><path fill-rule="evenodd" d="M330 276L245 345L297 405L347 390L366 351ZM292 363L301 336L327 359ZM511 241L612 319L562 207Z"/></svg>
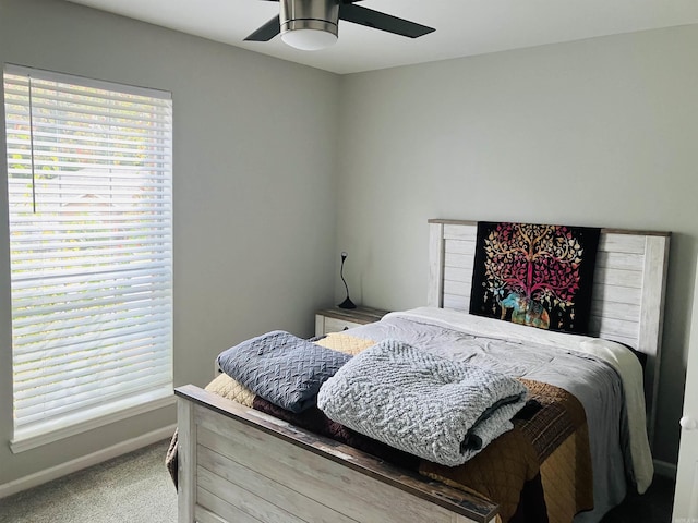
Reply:
<svg viewBox="0 0 698 523"><path fill-rule="evenodd" d="M0 0L0 62L172 93L176 385L205 385L236 341L312 335L337 266L336 75L44 0ZM0 485L174 423L165 409L11 453L5 188L0 209Z"/></svg>

